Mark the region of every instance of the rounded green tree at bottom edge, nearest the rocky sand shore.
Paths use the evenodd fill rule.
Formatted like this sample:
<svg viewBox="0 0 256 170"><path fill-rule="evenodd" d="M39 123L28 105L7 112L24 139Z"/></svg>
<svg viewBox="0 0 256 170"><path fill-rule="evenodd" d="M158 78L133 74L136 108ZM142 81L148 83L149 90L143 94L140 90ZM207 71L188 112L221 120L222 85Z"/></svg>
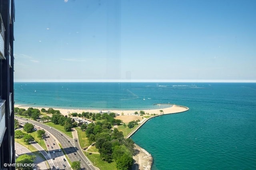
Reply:
<svg viewBox="0 0 256 170"><path fill-rule="evenodd" d="M132 167L133 158L131 154L124 153L116 159L116 168L118 170L129 170Z"/></svg>

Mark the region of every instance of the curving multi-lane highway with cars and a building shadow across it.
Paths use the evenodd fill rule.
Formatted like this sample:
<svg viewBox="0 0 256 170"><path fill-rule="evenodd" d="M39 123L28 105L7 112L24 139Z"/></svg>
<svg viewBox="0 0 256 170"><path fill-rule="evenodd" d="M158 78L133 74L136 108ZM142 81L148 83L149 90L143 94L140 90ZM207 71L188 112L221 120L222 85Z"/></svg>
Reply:
<svg viewBox="0 0 256 170"><path fill-rule="evenodd" d="M20 118L18 116L15 118L18 119L19 122L28 122L34 124L37 130L44 129L46 131L47 137L44 142L46 143L49 151L48 162L52 169L56 169L57 167L60 169L70 169L68 161L66 160L63 152L60 150L60 146L58 144L60 143L71 162L80 161L81 168L84 170L98 170L98 168L94 167L88 158L84 156L83 151L80 149L77 136L74 136L73 139L50 126L34 120Z"/></svg>

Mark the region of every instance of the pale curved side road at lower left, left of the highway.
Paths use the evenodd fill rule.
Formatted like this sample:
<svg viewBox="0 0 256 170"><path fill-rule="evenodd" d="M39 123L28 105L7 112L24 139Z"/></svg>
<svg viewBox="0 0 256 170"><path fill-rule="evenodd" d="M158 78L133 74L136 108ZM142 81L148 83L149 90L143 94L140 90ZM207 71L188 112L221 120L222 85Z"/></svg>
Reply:
<svg viewBox="0 0 256 170"><path fill-rule="evenodd" d="M18 156L22 155L22 154L28 154L28 155L34 155L36 156L36 160L34 161L35 166L33 167L33 169L37 169L37 170L47 170L47 166L46 166L46 162L44 161L43 158L41 158L40 156L33 154L30 150L28 150L28 148L22 146L21 144L15 142L15 150L16 150L16 154L18 154Z"/></svg>

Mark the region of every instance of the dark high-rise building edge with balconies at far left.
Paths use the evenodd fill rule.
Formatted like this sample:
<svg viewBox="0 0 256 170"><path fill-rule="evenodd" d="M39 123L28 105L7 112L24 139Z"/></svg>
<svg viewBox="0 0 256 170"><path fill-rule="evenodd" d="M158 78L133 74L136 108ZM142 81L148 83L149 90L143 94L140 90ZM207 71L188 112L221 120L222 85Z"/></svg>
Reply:
<svg viewBox="0 0 256 170"><path fill-rule="evenodd" d="M0 103L2 103L0 116L5 119L2 128L3 138L0 138L0 169L15 170L14 148L14 0L0 0L0 14L4 29L4 55L0 56ZM2 38L2 37L1 37ZM5 115L5 116L4 116ZM2 122L3 123L3 122ZM0 136L2 136L0 134ZM4 166L12 164L12 166Z"/></svg>

